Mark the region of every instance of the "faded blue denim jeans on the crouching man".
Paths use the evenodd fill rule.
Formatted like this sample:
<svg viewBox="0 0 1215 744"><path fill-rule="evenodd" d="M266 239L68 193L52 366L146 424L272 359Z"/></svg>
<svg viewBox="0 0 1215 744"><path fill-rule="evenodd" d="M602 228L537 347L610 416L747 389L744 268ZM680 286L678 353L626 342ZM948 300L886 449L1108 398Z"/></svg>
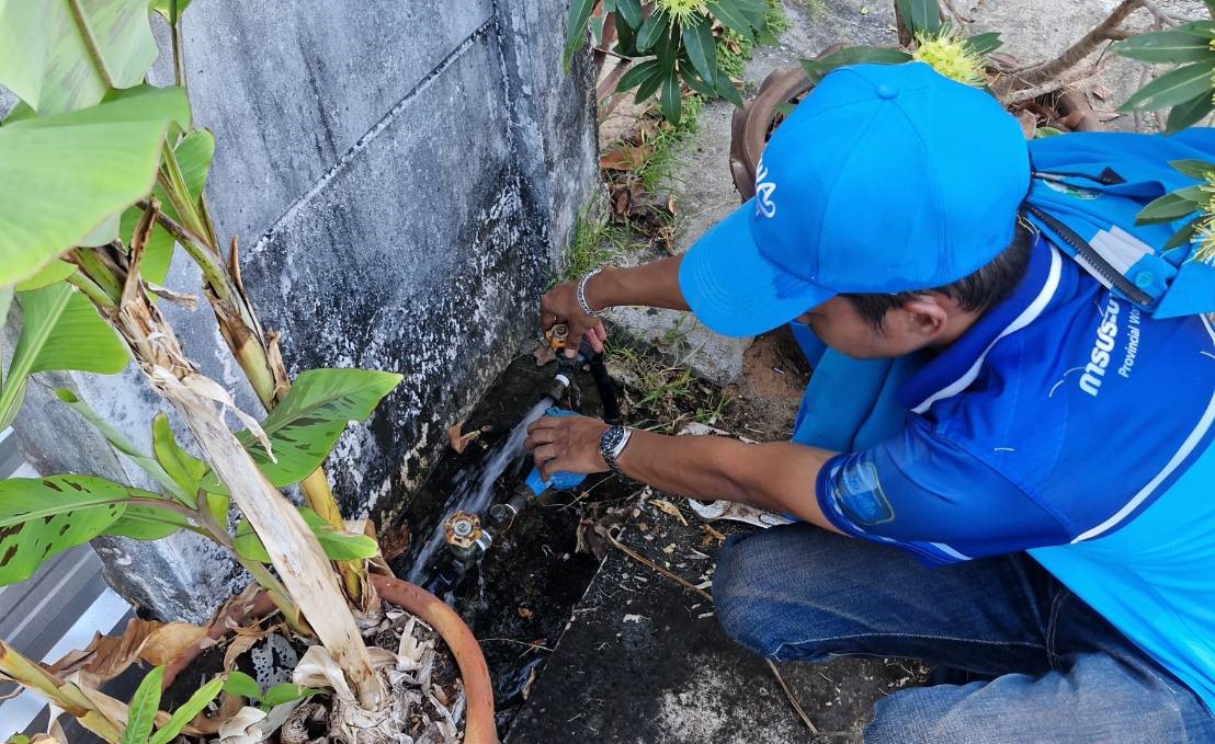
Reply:
<svg viewBox="0 0 1215 744"><path fill-rule="evenodd" d="M725 632L784 661L914 657L990 677L899 691L866 744L1215 743L1215 717L1024 553L925 568L797 523L722 550Z"/></svg>

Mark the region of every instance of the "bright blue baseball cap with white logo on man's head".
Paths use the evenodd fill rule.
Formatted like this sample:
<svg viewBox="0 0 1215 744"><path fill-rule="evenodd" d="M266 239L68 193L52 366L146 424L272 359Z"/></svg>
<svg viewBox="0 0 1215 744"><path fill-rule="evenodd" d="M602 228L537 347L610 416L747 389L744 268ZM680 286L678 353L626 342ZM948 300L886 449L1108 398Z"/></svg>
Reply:
<svg viewBox="0 0 1215 744"><path fill-rule="evenodd" d="M1011 242L1029 191L1021 125L922 62L827 74L776 129L756 195L689 249L684 300L750 336L842 293L956 282Z"/></svg>

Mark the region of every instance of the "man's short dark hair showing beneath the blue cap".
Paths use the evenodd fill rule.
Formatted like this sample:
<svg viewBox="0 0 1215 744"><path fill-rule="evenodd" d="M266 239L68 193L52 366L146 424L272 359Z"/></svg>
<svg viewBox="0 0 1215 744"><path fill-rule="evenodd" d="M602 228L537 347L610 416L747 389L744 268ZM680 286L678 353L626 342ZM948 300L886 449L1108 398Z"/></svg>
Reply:
<svg viewBox="0 0 1215 744"><path fill-rule="evenodd" d="M984 311L1006 300L1021 283L1025 276L1025 267L1029 266L1032 245L1033 234L1024 225L1017 222L1013 227L1012 243L1000 251L1000 255L987 266L953 284L892 295L844 294L840 296L847 297L860 317L868 320L876 331L882 330L882 322L886 319L887 312L903 307L908 301L927 293L940 293L946 297L953 297L965 311Z"/></svg>

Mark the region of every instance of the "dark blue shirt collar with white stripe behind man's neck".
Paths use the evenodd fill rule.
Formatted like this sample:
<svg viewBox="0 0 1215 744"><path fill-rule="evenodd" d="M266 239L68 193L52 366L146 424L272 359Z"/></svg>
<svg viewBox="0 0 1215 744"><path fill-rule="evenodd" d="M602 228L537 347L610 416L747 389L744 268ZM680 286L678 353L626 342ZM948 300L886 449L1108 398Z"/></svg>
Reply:
<svg viewBox="0 0 1215 744"><path fill-rule="evenodd" d="M1034 238L1029 266L1017 289L983 313L962 337L950 343L898 390L898 401L922 414L937 401L956 396L978 376L996 341L1029 325L1059 286L1062 257L1041 235Z"/></svg>

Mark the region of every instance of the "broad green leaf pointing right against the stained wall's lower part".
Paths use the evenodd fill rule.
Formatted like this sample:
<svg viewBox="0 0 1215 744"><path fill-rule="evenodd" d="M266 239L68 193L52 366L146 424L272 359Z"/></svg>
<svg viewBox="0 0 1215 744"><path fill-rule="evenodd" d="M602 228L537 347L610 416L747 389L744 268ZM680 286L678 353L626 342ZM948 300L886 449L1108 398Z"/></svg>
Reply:
<svg viewBox="0 0 1215 744"><path fill-rule="evenodd" d="M400 381L401 375L367 369L310 369L261 422L276 461L248 431L237 437L271 483L299 483L321 467L346 424L367 419ZM226 493L214 473L203 487Z"/></svg>

